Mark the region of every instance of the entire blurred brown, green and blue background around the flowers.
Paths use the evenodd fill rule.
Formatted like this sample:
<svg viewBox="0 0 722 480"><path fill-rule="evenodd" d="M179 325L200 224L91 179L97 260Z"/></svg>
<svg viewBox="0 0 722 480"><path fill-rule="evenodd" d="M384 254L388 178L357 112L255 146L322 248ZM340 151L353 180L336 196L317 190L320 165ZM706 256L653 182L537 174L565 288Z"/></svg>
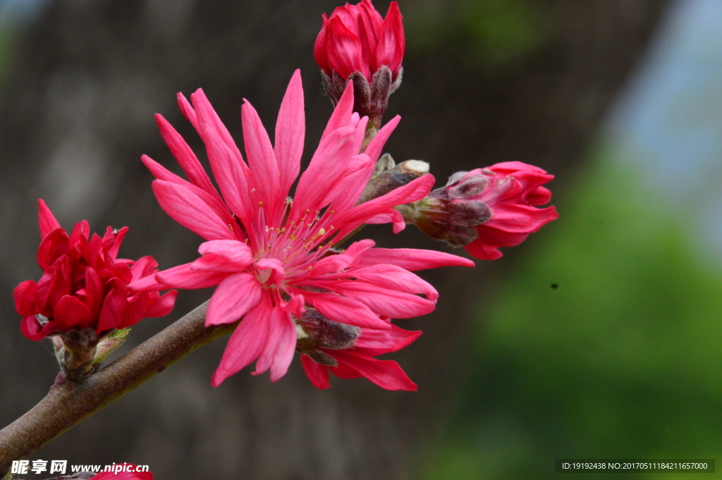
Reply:
<svg viewBox="0 0 722 480"><path fill-rule="evenodd" d="M57 372L49 343L19 333L12 304L12 288L40 276L37 198L66 228L128 225L126 258L191 261L199 237L157 206L139 162L175 168L152 114L202 152L175 92L203 87L240 139L243 97L274 125L300 68L308 161L331 113L313 40L337 5L0 0L0 424ZM416 393L364 379L316 390L299 362L275 384L244 370L214 389L221 340L31 460L129 461L157 479L466 480L552 478L554 458L719 456L722 4L400 6L404 84L386 118L403 120L387 151L431 162L438 184L496 162L539 165L557 175L560 219L498 261L422 272L437 310L399 322L425 333L392 356ZM451 251L388 230L365 232L381 246ZM182 292L126 351L207 297Z"/></svg>

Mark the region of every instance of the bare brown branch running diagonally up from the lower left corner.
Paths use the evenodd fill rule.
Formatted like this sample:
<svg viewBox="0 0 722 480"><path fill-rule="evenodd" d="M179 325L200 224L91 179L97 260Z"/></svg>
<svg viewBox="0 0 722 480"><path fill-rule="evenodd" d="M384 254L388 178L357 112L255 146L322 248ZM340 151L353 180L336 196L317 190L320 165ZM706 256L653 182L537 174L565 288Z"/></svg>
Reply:
<svg viewBox="0 0 722 480"><path fill-rule="evenodd" d="M208 302L79 383L58 381L27 414L0 430L0 478L23 458L102 409L232 325L206 328Z"/></svg>

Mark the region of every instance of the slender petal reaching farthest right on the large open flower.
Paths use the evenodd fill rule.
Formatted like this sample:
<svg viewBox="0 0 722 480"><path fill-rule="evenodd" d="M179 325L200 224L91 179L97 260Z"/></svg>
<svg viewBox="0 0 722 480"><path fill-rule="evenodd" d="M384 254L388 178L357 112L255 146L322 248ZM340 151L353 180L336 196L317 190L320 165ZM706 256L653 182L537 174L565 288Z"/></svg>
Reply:
<svg viewBox="0 0 722 480"><path fill-rule="evenodd" d="M371 248L362 253L358 266L391 263L404 270L438 269L441 266L474 266L474 262L451 253L416 248Z"/></svg>

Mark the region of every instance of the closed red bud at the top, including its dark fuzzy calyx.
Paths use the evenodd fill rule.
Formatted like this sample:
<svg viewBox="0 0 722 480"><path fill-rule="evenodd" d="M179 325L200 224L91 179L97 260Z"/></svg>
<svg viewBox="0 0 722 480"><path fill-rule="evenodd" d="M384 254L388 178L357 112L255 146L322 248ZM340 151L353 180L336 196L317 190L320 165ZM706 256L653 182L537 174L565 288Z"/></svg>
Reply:
<svg viewBox="0 0 722 480"><path fill-rule="evenodd" d="M391 95L401 84L404 58L404 25L396 1L386 18L370 0L339 6L326 18L313 45L321 66L323 86L334 105L350 80L354 84L354 111L367 115L367 128L378 130Z"/></svg>

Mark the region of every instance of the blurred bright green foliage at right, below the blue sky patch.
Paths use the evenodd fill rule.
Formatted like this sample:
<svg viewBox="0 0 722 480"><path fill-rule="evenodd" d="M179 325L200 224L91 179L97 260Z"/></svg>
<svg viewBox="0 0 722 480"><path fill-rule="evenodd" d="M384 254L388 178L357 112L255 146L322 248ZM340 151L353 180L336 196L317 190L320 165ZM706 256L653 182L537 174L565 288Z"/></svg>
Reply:
<svg viewBox="0 0 722 480"><path fill-rule="evenodd" d="M619 160L604 150L557 198L560 219L490 294L423 478L545 479L554 458L722 453L722 275L700 264L682 208Z"/></svg>

